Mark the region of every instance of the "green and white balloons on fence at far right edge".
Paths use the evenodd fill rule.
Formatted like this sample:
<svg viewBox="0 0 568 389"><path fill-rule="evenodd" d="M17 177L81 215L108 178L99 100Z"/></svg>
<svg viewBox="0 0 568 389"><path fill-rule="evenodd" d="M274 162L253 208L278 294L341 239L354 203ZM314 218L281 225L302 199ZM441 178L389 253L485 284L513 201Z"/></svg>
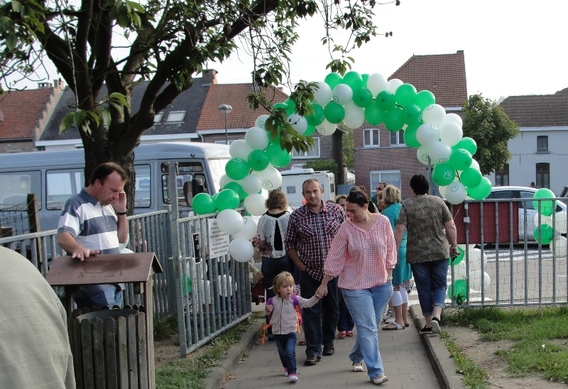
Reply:
<svg viewBox="0 0 568 389"><path fill-rule="evenodd" d="M558 258L566 257L567 241L562 234L566 233L566 212L556 211L556 200L550 189L541 188L533 195L533 207L537 210L534 216L534 239L541 244L552 244L554 254Z"/></svg>

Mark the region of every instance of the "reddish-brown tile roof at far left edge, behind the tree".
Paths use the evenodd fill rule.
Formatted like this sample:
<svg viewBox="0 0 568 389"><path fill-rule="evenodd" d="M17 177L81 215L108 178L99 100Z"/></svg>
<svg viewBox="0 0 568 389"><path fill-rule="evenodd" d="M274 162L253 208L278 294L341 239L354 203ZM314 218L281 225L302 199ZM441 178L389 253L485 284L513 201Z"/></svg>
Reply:
<svg viewBox="0 0 568 389"><path fill-rule="evenodd" d="M0 139L35 140L35 128L52 93L52 88L40 88L11 91L0 96L0 109L4 113Z"/></svg>

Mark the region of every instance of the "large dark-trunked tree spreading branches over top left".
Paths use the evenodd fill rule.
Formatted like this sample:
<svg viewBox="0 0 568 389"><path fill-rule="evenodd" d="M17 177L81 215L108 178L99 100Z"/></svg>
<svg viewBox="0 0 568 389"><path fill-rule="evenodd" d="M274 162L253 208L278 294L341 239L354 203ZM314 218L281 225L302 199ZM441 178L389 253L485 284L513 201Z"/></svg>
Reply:
<svg viewBox="0 0 568 389"><path fill-rule="evenodd" d="M240 47L255 59L252 72L260 88L281 85L287 74L298 21L321 15L322 42L338 56L330 71L344 74L350 50L377 35L375 0L11 0L0 5L0 78L28 77L47 56L76 97L75 112L61 129L79 129L85 150L85 176L101 162L124 166L134 182L133 149L155 114L191 87L208 61L223 61ZM397 1L398 5L398 1ZM338 44L334 30L348 31ZM134 85L147 80L140 108L130 106ZM103 86L107 95L101 96ZM266 90L266 89L264 89ZM309 113L313 85L292 93L296 111ZM272 132L288 150L307 150L310 139L295 136L282 109L266 96L252 107L270 108ZM268 123L268 121L267 121ZM133 187L127 187L133 204Z"/></svg>

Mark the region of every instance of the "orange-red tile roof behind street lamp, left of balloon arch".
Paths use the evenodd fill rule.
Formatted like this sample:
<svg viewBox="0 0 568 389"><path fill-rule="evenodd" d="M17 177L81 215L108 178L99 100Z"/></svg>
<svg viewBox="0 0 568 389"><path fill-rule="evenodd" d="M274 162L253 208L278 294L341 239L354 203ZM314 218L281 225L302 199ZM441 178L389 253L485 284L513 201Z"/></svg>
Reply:
<svg viewBox="0 0 568 389"><path fill-rule="evenodd" d="M225 128L225 115L219 111L221 104L228 104L233 111L227 114L227 128L249 129L254 126L256 118L265 115L264 108L253 111L246 97L253 93L252 84L214 84L209 86L209 92L201 110L197 130L214 130ZM269 88L265 95L272 104L285 101L288 96L278 88Z"/></svg>

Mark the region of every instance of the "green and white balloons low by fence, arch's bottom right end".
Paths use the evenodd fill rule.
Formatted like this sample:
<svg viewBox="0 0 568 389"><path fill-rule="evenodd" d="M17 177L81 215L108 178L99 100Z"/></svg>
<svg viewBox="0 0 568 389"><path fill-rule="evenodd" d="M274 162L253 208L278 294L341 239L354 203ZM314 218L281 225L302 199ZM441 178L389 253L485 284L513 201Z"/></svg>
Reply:
<svg viewBox="0 0 568 389"><path fill-rule="evenodd" d="M463 304L468 299L468 290L487 289L491 284L491 277L481 266L481 250L470 247L468 249L468 264L463 260L466 257L465 250L458 246L459 255L450 259L450 271L452 283L448 285L448 298L458 305ZM483 282L482 282L483 279Z"/></svg>

